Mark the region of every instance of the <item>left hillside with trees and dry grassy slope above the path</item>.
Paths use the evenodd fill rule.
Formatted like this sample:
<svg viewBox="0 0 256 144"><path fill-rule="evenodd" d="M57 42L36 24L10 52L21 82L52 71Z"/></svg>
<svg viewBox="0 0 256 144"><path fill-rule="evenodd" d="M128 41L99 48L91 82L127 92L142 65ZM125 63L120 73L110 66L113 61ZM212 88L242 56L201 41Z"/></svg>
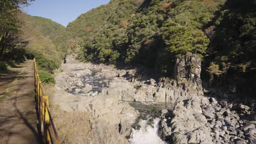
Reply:
<svg viewBox="0 0 256 144"><path fill-rule="evenodd" d="M54 82L53 70L60 66L63 57L58 37L65 27L43 17L22 13L20 9L30 2L0 2L0 70L36 57L41 80Z"/></svg>

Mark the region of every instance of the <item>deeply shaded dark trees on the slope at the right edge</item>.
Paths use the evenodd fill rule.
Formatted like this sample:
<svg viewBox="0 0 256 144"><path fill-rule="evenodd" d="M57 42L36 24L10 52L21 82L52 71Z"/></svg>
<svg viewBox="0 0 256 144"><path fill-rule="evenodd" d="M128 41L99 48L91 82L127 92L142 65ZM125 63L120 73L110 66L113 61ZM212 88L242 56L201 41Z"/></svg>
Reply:
<svg viewBox="0 0 256 144"><path fill-rule="evenodd" d="M213 21L214 35L208 63L219 65L219 82L251 93L256 81L256 1L227 1ZM211 67L211 65L210 65ZM210 68L209 67L209 68ZM219 71L215 73L218 74Z"/></svg>

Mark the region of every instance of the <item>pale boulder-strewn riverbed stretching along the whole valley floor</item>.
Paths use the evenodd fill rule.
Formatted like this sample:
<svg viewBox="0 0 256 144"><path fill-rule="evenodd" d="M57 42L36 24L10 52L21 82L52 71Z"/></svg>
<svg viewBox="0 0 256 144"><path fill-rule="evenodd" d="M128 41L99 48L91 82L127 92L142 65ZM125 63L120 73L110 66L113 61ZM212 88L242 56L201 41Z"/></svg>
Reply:
<svg viewBox="0 0 256 144"><path fill-rule="evenodd" d="M86 113L90 131L95 131L86 132L94 135L86 143L150 143L149 137L155 137L154 143L256 143L254 107L228 100L229 93L220 99L214 89L203 91L201 61L183 59L176 65L181 82L142 80L135 69L81 63L68 56L63 71L56 74L53 104L61 111ZM197 64L190 69L194 74L183 69L189 61ZM145 119L134 101L163 107L154 112L148 108Z"/></svg>

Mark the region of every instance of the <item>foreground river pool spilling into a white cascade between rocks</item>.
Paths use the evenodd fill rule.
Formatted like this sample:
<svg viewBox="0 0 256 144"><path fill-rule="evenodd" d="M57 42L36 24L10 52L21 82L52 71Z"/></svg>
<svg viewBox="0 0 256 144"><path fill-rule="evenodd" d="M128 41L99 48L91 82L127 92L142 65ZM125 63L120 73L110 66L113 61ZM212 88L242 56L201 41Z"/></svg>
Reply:
<svg viewBox="0 0 256 144"><path fill-rule="evenodd" d="M130 102L131 106L139 111L140 116L132 125L129 142L131 144L165 144L158 135L162 109L173 109L165 103L138 103Z"/></svg>

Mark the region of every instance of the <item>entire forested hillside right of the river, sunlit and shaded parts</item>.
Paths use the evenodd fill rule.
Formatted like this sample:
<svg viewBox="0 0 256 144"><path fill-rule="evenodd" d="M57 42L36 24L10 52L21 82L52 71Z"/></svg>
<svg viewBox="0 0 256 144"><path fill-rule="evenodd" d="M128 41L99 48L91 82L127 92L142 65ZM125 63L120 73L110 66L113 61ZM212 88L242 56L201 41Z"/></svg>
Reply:
<svg viewBox="0 0 256 144"><path fill-rule="evenodd" d="M112 0L69 23L62 39L82 61L144 65L164 76L172 76L177 56L195 53L211 86L252 92L255 3Z"/></svg>

